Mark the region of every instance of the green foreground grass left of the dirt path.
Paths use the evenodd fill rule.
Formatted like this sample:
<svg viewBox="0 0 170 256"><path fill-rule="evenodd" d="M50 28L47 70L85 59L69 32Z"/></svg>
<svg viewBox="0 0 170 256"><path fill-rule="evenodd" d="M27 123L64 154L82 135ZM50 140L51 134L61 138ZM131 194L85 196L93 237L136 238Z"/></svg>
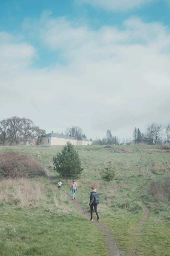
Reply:
<svg viewBox="0 0 170 256"><path fill-rule="evenodd" d="M56 207L53 192L56 198L61 192L46 186L47 201L28 202L34 207L1 202L0 255L106 255L103 234L68 199Z"/></svg>

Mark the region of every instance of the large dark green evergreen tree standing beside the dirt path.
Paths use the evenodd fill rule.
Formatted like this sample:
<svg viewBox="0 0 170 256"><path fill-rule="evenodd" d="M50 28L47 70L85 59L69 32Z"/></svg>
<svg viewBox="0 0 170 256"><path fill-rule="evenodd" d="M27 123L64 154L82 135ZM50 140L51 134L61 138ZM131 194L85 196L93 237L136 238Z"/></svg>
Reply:
<svg viewBox="0 0 170 256"><path fill-rule="evenodd" d="M82 173L81 161L78 152L74 149L74 145L67 142L61 152L53 156L54 170L56 170L63 178L78 178Z"/></svg>

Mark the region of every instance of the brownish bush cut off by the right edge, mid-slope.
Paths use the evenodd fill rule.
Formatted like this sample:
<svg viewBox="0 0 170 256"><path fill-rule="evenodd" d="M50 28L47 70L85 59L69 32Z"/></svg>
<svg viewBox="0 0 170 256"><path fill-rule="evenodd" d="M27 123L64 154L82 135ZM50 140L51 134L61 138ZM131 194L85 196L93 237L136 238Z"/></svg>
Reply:
<svg viewBox="0 0 170 256"><path fill-rule="evenodd" d="M164 180L153 181L149 185L149 194L156 199L168 201L170 199L170 178Z"/></svg>

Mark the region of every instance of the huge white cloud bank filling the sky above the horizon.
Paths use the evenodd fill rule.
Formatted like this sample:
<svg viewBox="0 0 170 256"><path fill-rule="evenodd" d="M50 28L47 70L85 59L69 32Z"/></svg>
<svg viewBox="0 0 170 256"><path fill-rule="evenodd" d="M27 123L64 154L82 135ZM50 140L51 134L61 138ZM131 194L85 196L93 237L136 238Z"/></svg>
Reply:
<svg viewBox="0 0 170 256"><path fill-rule="evenodd" d="M166 27L133 18L124 21L124 30L104 26L92 31L65 17L43 16L36 34L50 51L60 51L67 65L56 60L56 66L33 69L28 66L35 56L33 46L3 44L13 50L11 58L4 55L9 69L0 78L5 109L0 119L26 116L47 132L79 125L93 139L105 136L107 129L121 138L132 137L135 126L144 131L153 121L169 122L169 112L160 108L166 101L170 110Z"/></svg>

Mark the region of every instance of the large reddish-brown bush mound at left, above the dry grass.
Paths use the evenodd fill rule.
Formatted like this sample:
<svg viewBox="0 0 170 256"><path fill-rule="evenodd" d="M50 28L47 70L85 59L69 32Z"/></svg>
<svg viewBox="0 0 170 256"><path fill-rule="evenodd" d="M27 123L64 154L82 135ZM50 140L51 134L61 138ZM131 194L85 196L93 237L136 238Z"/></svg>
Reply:
<svg viewBox="0 0 170 256"><path fill-rule="evenodd" d="M3 170L3 177L32 178L46 175L42 164L21 152L0 153L0 168Z"/></svg>

